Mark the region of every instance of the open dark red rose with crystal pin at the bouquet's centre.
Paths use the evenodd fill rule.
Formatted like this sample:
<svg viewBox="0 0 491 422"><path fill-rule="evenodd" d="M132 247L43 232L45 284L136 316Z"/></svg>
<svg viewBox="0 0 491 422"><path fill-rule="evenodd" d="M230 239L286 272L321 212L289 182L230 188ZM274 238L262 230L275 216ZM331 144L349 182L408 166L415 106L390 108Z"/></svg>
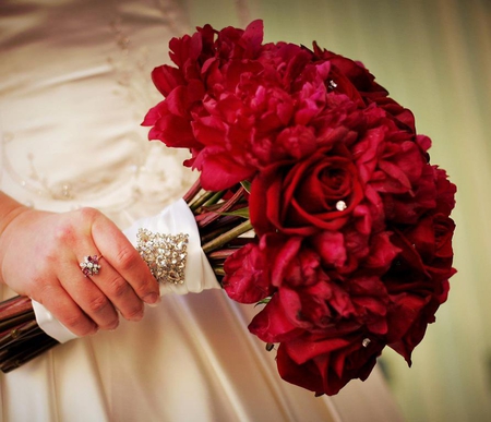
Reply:
<svg viewBox="0 0 491 422"><path fill-rule="evenodd" d="M349 152L343 146L321 148L301 161L272 165L254 178L251 222L259 234L337 230L362 197Z"/></svg>

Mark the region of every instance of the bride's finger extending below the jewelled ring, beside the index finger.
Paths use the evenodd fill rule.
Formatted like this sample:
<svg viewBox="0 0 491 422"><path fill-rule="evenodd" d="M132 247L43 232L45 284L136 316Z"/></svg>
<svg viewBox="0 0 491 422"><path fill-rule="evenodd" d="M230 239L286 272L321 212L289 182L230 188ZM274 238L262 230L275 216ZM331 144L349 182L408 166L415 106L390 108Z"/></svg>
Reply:
<svg viewBox="0 0 491 422"><path fill-rule="evenodd" d="M143 302L133 288L103 257L99 261L98 274L89 275L95 286L111 301L112 305L129 321L140 321L143 317Z"/></svg>

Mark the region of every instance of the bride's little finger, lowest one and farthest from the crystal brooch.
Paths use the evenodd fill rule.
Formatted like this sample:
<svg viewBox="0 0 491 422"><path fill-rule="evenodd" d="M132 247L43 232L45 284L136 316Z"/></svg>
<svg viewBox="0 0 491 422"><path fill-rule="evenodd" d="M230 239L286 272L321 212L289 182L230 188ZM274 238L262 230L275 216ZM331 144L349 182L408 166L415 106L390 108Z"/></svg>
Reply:
<svg viewBox="0 0 491 422"><path fill-rule="evenodd" d="M48 309L70 331L80 337L97 333L97 324L82 311L61 284L57 281L52 285L40 286L43 287L33 299Z"/></svg>

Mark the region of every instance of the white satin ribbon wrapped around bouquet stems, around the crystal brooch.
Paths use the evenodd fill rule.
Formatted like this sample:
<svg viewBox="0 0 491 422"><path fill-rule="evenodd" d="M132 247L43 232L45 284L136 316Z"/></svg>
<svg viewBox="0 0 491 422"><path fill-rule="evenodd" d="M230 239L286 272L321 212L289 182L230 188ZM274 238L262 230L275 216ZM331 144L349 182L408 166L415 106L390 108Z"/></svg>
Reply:
<svg viewBox="0 0 491 422"><path fill-rule="evenodd" d="M136 221L124 230L124 234L134 246L136 246L136 233L140 228L154 233L187 233L189 236L184 282L178 285L160 284L160 296L199 293L203 290L220 288L206 255L201 249L200 232L194 216L183 200L175 202L154 217ZM101 270L104 270L104 266ZM40 303L33 300L33 308L37 324L50 337L59 342L67 342L77 337L56 319Z"/></svg>

